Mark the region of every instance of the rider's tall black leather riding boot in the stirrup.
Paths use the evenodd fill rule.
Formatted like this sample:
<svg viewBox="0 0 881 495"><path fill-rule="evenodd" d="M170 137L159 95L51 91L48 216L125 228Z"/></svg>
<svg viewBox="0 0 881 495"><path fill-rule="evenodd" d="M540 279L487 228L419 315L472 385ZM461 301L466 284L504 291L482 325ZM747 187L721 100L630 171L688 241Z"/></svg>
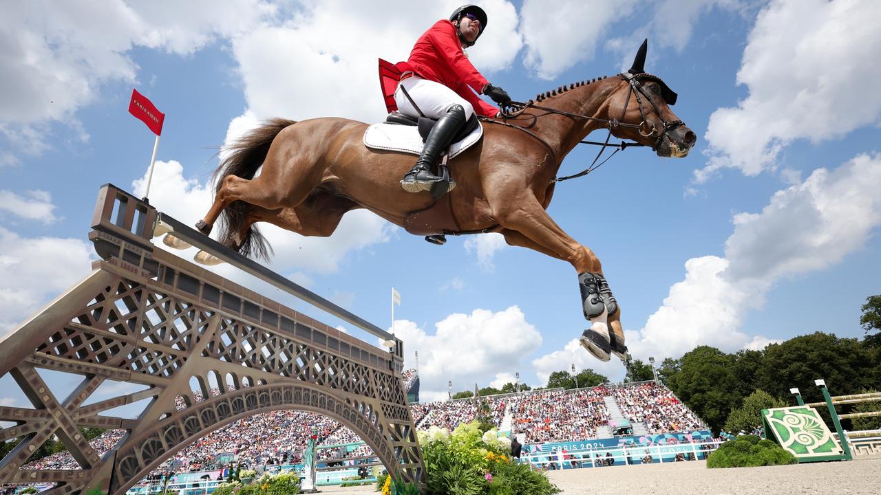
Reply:
<svg viewBox="0 0 881 495"><path fill-rule="evenodd" d="M426 137L426 145L422 148L422 154L416 160L416 165L403 175L401 180L403 190L410 193L430 191L433 184L443 181L442 177L432 174L432 168L441 158L441 153L452 144L453 137L459 129L462 129L464 123L465 109L461 105L454 105L434 124ZM448 190L453 190L454 186L455 182L450 181Z"/></svg>

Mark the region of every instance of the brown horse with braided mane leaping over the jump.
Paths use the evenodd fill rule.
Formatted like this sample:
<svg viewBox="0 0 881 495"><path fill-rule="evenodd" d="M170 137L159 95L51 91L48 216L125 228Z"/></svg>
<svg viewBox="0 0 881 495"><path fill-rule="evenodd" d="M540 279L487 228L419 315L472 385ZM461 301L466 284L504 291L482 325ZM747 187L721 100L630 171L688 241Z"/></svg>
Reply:
<svg viewBox="0 0 881 495"><path fill-rule="evenodd" d="M611 136L649 146L660 157L685 157L692 149L694 132L670 109L677 94L643 69L647 49L648 40L618 77L560 86L484 119L484 137L449 163L458 185L445 199L459 229L450 233L501 233L511 246L571 263L591 322L581 344L603 361L612 353L626 357L621 308L596 254L567 235L546 209L562 160L596 129L609 129L603 150ZM221 242L243 255L266 257L270 247L257 222L326 237L347 211L365 208L404 226L413 212L437 204L427 192L401 189L398 179L413 157L367 148L366 128L333 117L263 123L221 159L214 202L196 228L208 235L223 215ZM211 262L211 255L196 259ZM423 268L415 262L412 270Z"/></svg>

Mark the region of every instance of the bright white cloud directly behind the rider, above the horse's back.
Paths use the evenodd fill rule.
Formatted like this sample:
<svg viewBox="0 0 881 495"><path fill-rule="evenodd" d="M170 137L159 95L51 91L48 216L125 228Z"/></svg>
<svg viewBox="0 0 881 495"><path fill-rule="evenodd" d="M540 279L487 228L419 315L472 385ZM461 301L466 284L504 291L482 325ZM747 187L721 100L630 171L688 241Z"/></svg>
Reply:
<svg viewBox="0 0 881 495"><path fill-rule="evenodd" d="M233 41L248 110L257 119L381 120L386 111L377 59L406 60L418 36L457 6L455 1L310 3L283 26L254 29ZM512 4L492 0L482 7L491 20L469 55L490 75L512 63L521 41Z"/></svg>

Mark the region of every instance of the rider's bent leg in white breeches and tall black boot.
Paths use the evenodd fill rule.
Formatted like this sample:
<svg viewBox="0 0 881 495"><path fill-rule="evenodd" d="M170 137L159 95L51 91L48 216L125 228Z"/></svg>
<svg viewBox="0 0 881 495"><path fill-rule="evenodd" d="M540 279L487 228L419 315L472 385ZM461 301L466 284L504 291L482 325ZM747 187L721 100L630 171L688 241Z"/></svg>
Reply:
<svg viewBox="0 0 881 495"><path fill-rule="evenodd" d="M418 110L413 107L411 100L416 103ZM401 82L395 92L395 101L404 115L418 117L421 113L428 118L438 119L426 137L426 145L416 166L401 181L401 187L409 192L431 190L434 183L442 180L432 173L433 166L441 153L448 149L459 129L474 115L474 107L447 86L417 76ZM451 189L453 184L450 183Z"/></svg>

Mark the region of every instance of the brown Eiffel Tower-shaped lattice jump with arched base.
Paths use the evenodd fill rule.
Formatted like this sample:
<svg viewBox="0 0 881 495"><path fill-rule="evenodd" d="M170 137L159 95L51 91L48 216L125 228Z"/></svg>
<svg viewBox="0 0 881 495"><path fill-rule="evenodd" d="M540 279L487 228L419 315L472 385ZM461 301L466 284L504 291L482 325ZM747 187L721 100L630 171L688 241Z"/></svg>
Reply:
<svg viewBox="0 0 881 495"><path fill-rule="evenodd" d="M374 449L389 473L423 483L425 467L400 374L401 342L295 284L289 283L289 292L307 293L310 302L394 339L393 350L154 248L150 240L163 218L174 222L118 188L101 188L89 234L101 260L0 341L0 376L11 373L33 403L33 409L0 407L0 421L14 423L0 429L0 441L21 439L0 460L0 483L56 482L51 494L122 494L205 434L284 409L336 419ZM62 397L38 368L76 373L82 380ZM106 380L147 388L84 406ZM227 383L232 389L224 388ZM212 396L211 384L218 384L219 395ZM101 414L144 399L149 403L136 419ZM127 434L100 457L80 427ZM52 435L81 469L22 469Z"/></svg>

